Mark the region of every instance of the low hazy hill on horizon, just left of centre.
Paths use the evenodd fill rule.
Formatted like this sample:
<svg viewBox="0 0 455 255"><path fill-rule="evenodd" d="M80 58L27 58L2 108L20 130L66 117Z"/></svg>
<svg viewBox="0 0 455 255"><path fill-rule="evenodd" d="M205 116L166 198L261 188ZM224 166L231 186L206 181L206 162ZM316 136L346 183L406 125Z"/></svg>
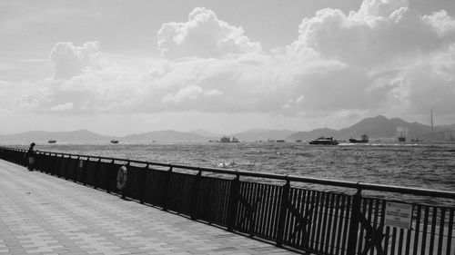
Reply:
<svg viewBox="0 0 455 255"><path fill-rule="evenodd" d="M172 130L129 134L122 138L123 142L207 142L210 138L192 132Z"/></svg>

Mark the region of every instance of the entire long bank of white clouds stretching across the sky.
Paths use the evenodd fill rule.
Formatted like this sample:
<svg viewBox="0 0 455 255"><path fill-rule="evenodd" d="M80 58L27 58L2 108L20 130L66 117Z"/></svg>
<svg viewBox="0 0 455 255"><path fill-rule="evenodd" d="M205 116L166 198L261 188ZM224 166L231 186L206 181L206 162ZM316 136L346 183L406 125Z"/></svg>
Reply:
<svg viewBox="0 0 455 255"><path fill-rule="evenodd" d="M15 104L55 114L449 114L454 24L444 11L421 15L407 1L366 0L357 12L324 9L303 19L295 42L267 54L240 27L197 8L186 23L162 26L158 47L170 58L147 60L148 72L108 63L97 43L56 44L56 80L20 85L30 90Z"/></svg>

